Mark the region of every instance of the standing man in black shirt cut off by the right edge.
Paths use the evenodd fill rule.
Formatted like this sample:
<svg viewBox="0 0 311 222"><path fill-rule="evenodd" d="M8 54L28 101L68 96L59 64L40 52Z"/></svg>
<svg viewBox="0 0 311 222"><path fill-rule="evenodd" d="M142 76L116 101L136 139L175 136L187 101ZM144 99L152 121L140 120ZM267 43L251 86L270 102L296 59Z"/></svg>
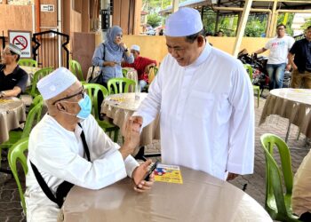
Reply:
<svg viewBox="0 0 311 222"><path fill-rule="evenodd" d="M291 88L311 89L311 26L306 30L306 38L292 45L288 59L293 68Z"/></svg>

